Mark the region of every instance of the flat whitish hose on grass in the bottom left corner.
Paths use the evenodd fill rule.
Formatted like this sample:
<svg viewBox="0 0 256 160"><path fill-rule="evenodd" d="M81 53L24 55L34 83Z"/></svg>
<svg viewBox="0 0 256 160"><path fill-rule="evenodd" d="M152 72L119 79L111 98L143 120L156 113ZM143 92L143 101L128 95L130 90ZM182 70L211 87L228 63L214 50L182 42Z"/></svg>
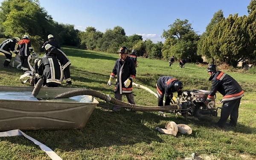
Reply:
<svg viewBox="0 0 256 160"><path fill-rule="evenodd" d="M62 160L61 157L59 157L54 151L52 151L51 148L47 147L43 143L35 140L34 138L26 135L19 129L11 130L11 131L6 131L6 132L0 132L0 137L11 137L11 136L24 136L27 139L31 140L34 142L36 145L38 145L52 160Z"/></svg>

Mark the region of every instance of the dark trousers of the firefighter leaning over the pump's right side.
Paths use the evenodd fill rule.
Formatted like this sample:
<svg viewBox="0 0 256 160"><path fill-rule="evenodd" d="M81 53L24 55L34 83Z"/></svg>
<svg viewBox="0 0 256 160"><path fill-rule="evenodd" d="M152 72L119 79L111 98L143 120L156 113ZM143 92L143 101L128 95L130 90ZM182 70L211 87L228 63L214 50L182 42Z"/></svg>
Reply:
<svg viewBox="0 0 256 160"><path fill-rule="evenodd" d="M238 114L239 114L239 105L241 98L233 99L227 102L223 102L221 108L221 118L217 122L217 124L221 127L226 125L227 119L230 116L230 126L236 126Z"/></svg>

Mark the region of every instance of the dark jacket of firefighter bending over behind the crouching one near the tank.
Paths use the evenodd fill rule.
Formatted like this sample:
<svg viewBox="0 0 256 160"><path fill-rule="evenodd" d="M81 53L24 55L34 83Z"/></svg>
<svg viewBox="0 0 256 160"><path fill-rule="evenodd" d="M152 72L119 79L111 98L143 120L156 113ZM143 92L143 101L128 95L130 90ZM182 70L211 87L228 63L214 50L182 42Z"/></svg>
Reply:
<svg viewBox="0 0 256 160"><path fill-rule="evenodd" d="M71 65L69 59L67 58L67 55L64 52L62 52L61 49L51 47L50 52L56 54L56 58L60 61L63 70L65 70L67 66Z"/></svg>

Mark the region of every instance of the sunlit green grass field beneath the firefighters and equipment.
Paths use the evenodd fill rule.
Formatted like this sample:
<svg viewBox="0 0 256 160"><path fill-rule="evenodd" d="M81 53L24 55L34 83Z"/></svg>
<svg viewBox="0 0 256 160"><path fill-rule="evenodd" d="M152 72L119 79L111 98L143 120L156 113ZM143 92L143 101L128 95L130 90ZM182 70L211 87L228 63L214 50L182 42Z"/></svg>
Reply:
<svg viewBox="0 0 256 160"><path fill-rule="evenodd" d="M109 75L117 54L92 52L63 46L62 50L72 63L71 87L84 87L113 96L107 86ZM0 54L0 63L5 56ZM174 76L184 84L184 90L209 90L211 82L207 66L186 64L184 69L175 62L137 58L135 83L156 91L160 76ZM218 117L185 120L182 116L158 112L129 112L122 108L121 114L111 114L112 104L101 99L86 126L81 130L25 131L26 134L44 143L63 160L182 160L192 153L203 160L253 160L256 159L256 76L248 73L224 71L233 76L245 91L239 108L237 128L214 128L210 124ZM0 66L0 85L28 86L18 81L21 71ZM64 82L63 82L64 83ZM66 87L63 85L63 87ZM156 106L157 97L134 86L137 105ZM217 101L221 95L217 93ZM123 101L127 99L123 97ZM221 106L217 103L217 106ZM184 123L192 128L192 134L177 136L161 134L154 130L164 128L166 122ZM24 137L0 138L1 160L49 160L44 151Z"/></svg>

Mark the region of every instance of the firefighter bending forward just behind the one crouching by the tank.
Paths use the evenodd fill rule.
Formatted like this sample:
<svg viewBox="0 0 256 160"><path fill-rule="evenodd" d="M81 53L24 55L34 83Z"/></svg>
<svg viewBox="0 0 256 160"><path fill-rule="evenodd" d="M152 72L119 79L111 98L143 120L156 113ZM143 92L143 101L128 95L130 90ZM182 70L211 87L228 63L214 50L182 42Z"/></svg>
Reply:
<svg viewBox="0 0 256 160"><path fill-rule="evenodd" d="M62 70L64 72L64 78L66 80L66 85L71 85L71 76L70 76L70 61L67 58L67 55L61 51L61 49L58 49L56 47L53 47L50 44L45 45L45 49L47 50L47 52L55 52L56 53L56 57L57 59L60 61L61 66L62 66Z"/></svg>

